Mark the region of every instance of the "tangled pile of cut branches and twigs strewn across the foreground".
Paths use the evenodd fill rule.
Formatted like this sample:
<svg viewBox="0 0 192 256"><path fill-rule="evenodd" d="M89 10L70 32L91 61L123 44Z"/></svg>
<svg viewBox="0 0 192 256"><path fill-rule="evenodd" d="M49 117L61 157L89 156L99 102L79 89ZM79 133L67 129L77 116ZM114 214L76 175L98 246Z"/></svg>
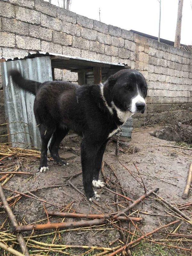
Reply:
<svg viewBox="0 0 192 256"><path fill-rule="evenodd" d="M6 149L6 153L3 153L3 148ZM38 151L32 152L33 150L28 150L28 149L21 149L21 148L11 148L9 146L0 146L0 154L7 154L4 155L0 159L0 163L3 163L0 165L0 175L23 175L27 174L32 176L32 173L28 172L19 172L20 165L16 165L15 170L13 171L14 173L9 173L11 171L8 171L6 168L7 165L9 165L9 161L7 158L9 157L31 157L31 158L36 158L39 156ZM38 157L37 157L38 158ZM8 161L8 162L7 162ZM139 184L144 188L144 193L138 197L136 200L133 200L129 198L126 195L126 190L122 187L120 181L117 178L116 172L113 168L113 166L110 166L107 162L102 163L102 169L101 173L103 175L103 179L105 180L105 187L101 188L100 192L106 190L108 193L112 193L115 195L116 201L113 203L113 205L116 207L116 211L112 211L111 208L107 205L109 208L109 213L104 212L104 208L102 205L100 205L98 202L93 201L94 204L94 209L96 209L99 214L84 214L84 213L77 213L76 209L74 207L74 202L72 201L68 205L58 205L54 204L52 202L46 202L44 199L41 199L39 197L36 197L34 194L36 191L27 191L26 193L21 193L19 191L14 191L11 190L10 188L7 188L5 186L5 183L3 180L1 180L2 176L0 176L1 180L1 185L0 185L0 198L1 201L0 204L3 205L3 209L7 212L9 221L12 225L12 231L6 230L4 228L4 223L1 226L1 231L0 232L0 248L2 248L4 251L7 251L11 253L12 255L16 256L29 256L29 248L33 249L32 252L34 254L30 255L42 255L42 252L49 253L49 252L60 252L61 254L67 254L67 255L75 255L72 252L68 252L68 249L78 249L78 250L83 250L83 253L81 255L85 255L88 253L95 253L94 256L113 256L113 255L120 255L121 253L123 254L128 254L131 255L131 249L138 245L141 241L147 241L150 243L154 244L161 244L167 248L174 248L179 251L185 251L188 253L192 253L192 248L191 248L191 243L189 244L188 248L183 247L182 244L180 245L174 245L174 244L166 244L164 241L157 241L154 239L152 236L155 233L164 233L166 234L167 237L177 237L177 241L191 241L192 234L182 234L182 233L176 233L177 230L179 229L181 223L186 222L188 225L192 227L192 220L191 218L183 212L183 210L189 210L192 207L192 203L189 202L187 204L183 205L173 205L169 202L167 202L164 198L159 196L157 193L158 188L153 188L148 190L144 184L144 181L140 175L140 172L135 165L135 168L138 172L138 175L135 176L132 174L132 172L121 162L119 162L123 168L127 169L127 171L130 172L132 177L136 179ZM104 167L108 168L113 175L114 179L112 180L111 178L108 178L105 176L104 173ZM2 167L6 169L6 171L1 171ZM4 174L4 172L7 172ZM86 202L86 198L84 197L84 194L72 183L72 179L76 176L78 176L80 173L77 173L74 176L68 177L65 182L63 183L63 186L71 186L73 189L77 191L83 198L84 202ZM3 176L4 177L4 176ZM9 176L10 177L10 176ZM13 176L12 176L13 177ZM11 177L11 178L12 178ZM10 178L10 179L11 179ZM140 178L140 180L138 180ZM9 180L10 180L9 179ZM61 184L58 184L59 187L61 187ZM8 196L8 198L5 197L4 195L4 190L8 190L10 192L14 192L14 196ZM44 212L45 212L45 219L47 220L47 223L44 224L39 224L38 222L30 224L30 225L19 225L17 222L13 212L12 212L12 205L15 205L18 200L20 200L21 197L30 197L33 198L34 200L41 201L43 203L44 207ZM167 222L165 225L161 225L158 228L155 228L151 232L148 233L143 233L143 231L139 228L139 223L142 221L141 216L139 216L140 213L144 213L139 210L134 210L134 208L142 202L144 199L147 199L147 197L150 197L154 201L158 202L159 204L162 204L164 207L166 207L166 210L164 210L168 215L172 217L171 222ZM122 199L124 201L119 201L119 199ZM143 201L144 202L144 201ZM51 204L55 205L59 208L59 211L47 211L44 203L46 204ZM81 201L79 201L79 204ZM87 204L89 204L87 202ZM125 205L125 206L122 206ZM93 207L90 205L90 207ZM121 209L120 209L121 207ZM123 207L123 208L122 208ZM122 210L123 209L123 210ZM135 213L137 213L137 216L134 216ZM149 214L145 212L144 214ZM62 222L51 222L52 216L54 217L62 217L63 220ZM67 221L65 222L64 220L68 218L75 218L77 221ZM80 219L80 220L79 220ZM83 220L82 220L83 219ZM123 222L128 223L128 228L124 228ZM27 223L26 223L27 224ZM166 228L167 227L173 227L174 230L173 232L167 232ZM49 233L44 233L44 234L39 234L39 235L34 235L34 232L36 230L47 230L47 229L55 229L55 231L49 232ZM111 241L111 243L108 244L108 247L102 247L102 246L88 246L88 245L68 245L68 244L56 244L54 243L56 240L56 237L59 236L63 232L69 232L69 231L76 231L76 230L92 230L95 232L98 231L106 231L106 230L111 230L111 229L116 229L119 232L119 238L117 238L114 241ZM29 236L23 236L22 232L24 231L30 231ZM41 238L42 236L48 236L48 235L54 235L52 239L52 243L43 243L36 241L35 238ZM173 241L172 239L167 239L166 241ZM175 241L175 239L174 239ZM117 243L116 246L113 246L115 243ZM18 250L18 245L20 246L20 251ZM17 249L17 250L16 250ZM40 254L38 254L40 253ZM79 254L78 254L79 255Z"/></svg>

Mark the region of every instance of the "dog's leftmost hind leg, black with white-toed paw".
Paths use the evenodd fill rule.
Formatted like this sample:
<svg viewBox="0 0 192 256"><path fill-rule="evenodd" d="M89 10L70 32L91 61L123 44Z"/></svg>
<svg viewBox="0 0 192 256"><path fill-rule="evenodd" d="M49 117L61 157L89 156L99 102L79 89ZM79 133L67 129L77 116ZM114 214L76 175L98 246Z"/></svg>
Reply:
<svg viewBox="0 0 192 256"><path fill-rule="evenodd" d="M41 160L38 171L46 172L49 170L47 167L47 145L51 139L53 130L45 126L44 124L39 125L40 135L41 135Z"/></svg>

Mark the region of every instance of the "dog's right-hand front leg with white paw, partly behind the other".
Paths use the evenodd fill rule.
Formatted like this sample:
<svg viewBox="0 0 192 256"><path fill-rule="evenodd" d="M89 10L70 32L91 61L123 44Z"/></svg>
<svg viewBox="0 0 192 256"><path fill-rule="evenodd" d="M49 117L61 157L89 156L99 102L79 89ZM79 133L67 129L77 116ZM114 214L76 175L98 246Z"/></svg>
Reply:
<svg viewBox="0 0 192 256"><path fill-rule="evenodd" d="M105 185L104 182L99 180L99 172L101 169L103 154L105 152L106 145L107 145L107 141L103 143L103 145L100 147L95 158L94 177L92 181L92 184L95 188L102 188Z"/></svg>

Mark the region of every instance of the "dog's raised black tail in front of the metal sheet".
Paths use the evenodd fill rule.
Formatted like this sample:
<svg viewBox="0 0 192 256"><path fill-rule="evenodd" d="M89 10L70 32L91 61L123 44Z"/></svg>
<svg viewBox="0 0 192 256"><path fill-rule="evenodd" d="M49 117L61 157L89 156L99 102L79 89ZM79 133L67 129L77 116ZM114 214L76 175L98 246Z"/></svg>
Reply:
<svg viewBox="0 0 192 256"><path fill-rule="evenodd" d="M12 69L9 72L9 75L12 76L12 80L22 89L27 90L28 92L36 95L36 92L39 89L41 83L25 79L21 76L20 72L16 69Z"/></svg>

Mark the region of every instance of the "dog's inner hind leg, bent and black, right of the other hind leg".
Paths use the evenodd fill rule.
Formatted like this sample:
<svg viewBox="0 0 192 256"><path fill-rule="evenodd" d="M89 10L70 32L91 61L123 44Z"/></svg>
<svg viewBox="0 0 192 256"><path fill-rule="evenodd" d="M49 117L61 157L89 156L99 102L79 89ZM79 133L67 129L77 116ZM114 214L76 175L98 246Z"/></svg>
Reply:
<svg viewBox="0 0 192 256"><path fill-rule="evenodd" d="M68 164L64 160L61 160L58 153L61 140L63 140L63 138L68 133L68 131L69 131L68 128L61 129L57 127L56 131L53 133L52 140L49 146L49 151L52 158L57 162L57 164L64 164L64 165Z"/></svg>

